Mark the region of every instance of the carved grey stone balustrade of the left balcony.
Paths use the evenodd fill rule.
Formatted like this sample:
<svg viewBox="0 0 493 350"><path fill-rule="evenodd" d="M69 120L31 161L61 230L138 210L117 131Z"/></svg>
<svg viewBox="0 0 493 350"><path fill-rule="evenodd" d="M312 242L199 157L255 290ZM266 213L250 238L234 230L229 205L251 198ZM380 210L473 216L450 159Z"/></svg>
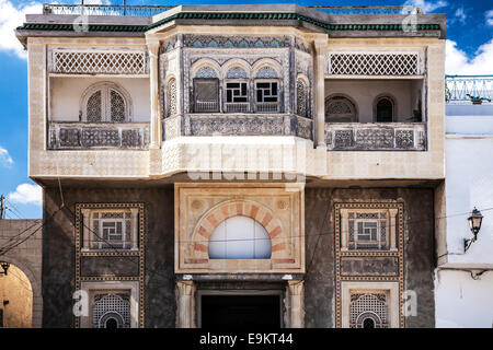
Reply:
<svg viewBox="0 0 493 350"><path fill-rule="evenodd" d="M149 145L149 122L50 122L49 150L133 149Z"/></svg>

